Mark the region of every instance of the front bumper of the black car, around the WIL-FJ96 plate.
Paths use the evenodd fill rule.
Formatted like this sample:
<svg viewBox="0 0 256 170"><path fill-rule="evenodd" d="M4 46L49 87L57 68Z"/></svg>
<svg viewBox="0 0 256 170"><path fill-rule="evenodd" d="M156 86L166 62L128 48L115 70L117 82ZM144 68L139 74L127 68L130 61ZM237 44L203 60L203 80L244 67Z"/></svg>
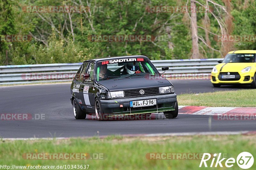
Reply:
<svg viewBox="0 0 256 170"><path fill-rule="evenodd" d="M130 101L149 99L156 99L157 104L155 106L147 107L130 107ZM114 117L175 110L176 100L177 95L174 93L145 97L100 100L100 103L104 114L107 114L107 117ZM123 107L120 107L120 105L123 105Z"/></svg>

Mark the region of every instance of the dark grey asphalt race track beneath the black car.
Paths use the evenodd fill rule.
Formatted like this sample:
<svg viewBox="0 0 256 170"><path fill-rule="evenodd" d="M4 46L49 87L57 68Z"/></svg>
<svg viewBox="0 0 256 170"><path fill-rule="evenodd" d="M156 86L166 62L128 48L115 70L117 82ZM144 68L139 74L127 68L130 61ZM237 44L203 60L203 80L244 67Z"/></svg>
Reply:
<svg viewBox="0 0 256 170"><path fill-rule="evenodd" d="M175 92L199 93L249 87L213 88L209 80L173 80ZM119 134L256 130L255 120L220 121L206 115L179 115L175 119L97 121L75 120L70 85L0 87L0 113L45 114L45 120L0 120L0 137L84 137ZM163 115L157 115L163 117Z"/></svg>

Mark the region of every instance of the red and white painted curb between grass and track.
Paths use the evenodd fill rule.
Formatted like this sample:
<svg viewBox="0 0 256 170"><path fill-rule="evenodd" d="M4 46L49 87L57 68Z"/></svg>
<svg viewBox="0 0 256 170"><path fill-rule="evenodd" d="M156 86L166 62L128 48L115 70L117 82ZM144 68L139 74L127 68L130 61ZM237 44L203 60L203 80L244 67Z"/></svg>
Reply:
<svg viewBox="0 0 256 170"><path fill-rule="evenodd" d="M179 114L190 115L256 115L256 107L179 106Z"/></svg>

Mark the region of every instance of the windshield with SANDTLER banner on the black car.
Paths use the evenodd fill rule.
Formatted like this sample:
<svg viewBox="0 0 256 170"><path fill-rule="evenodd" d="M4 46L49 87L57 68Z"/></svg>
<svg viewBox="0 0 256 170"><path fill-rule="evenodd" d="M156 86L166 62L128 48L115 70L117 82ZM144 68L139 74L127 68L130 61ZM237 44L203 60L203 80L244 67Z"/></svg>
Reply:
<svg viewBox="0 0 256 170"><path fill-rule="evenodd" d="M97 80L159 75L151 62L145 58L122 58L97 63Z"/></svg>

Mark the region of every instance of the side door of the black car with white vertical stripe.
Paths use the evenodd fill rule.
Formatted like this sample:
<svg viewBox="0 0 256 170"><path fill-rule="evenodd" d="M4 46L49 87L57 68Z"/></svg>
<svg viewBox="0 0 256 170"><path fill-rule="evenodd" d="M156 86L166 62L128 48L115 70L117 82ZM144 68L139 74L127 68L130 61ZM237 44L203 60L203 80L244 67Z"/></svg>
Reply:
<svg viewBox="0 0 256 170"><path fill-rule="evenodd" d="M87 111L93 112L94 111L94 103L95 103L95 95L96 95L96 88L94 86L94 63L90 62L87 66L87 69L84 74L90 74L89 78L83 78L83 82L81 85L81 98L82 102L85 106ZM80 94L80 92L79 92Z"/></svg>

